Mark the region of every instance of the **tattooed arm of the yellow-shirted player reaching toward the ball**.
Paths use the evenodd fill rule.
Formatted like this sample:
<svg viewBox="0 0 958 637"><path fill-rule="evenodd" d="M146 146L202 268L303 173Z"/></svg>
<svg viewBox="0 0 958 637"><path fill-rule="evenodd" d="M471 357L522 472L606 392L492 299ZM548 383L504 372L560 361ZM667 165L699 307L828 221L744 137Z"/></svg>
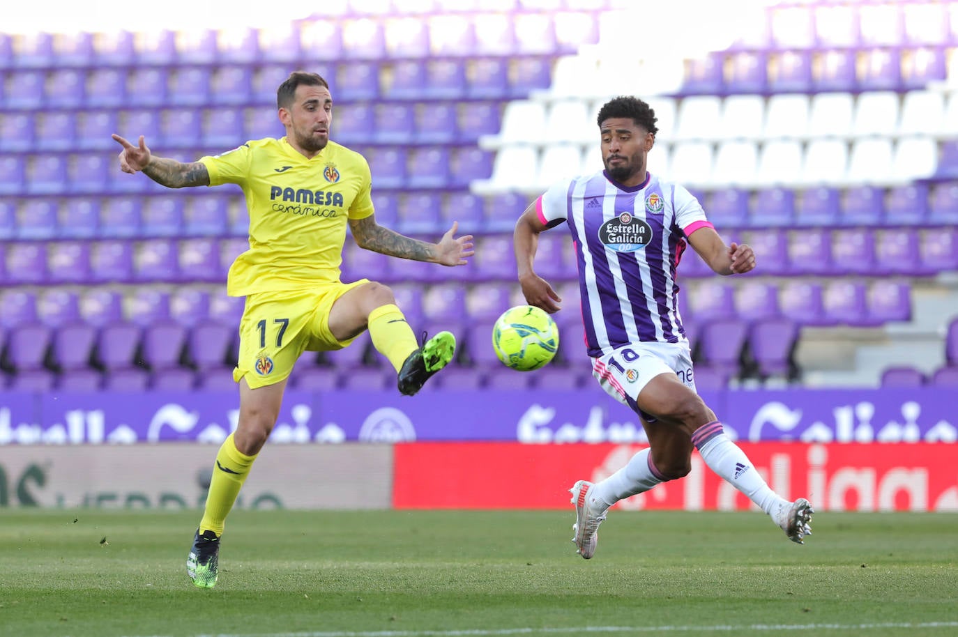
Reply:
<svg viewBox="0 0 958 637"><path fill-rule="evenodd" d="M458 228L459 223L453 221L452 227L446 231L439 243L429 243L405 237L380 226L376 223L376 215L350 219L350 231L359 247L390 257L441 265L466 265L466 258L475 254L472 249L472 235L456 238Z"/></svg>

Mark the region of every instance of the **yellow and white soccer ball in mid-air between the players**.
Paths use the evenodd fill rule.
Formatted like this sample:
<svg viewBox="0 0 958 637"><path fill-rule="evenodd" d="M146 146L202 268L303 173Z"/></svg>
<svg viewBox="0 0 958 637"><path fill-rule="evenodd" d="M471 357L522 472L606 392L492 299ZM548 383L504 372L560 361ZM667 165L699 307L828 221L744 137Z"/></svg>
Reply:
<svg viewBox="0 0 958 637"><path fill-rule="evenodd" d="M492 349L506 367L532 372L556 355L559 330L543 309L510 307L492 326Z"/></svg>

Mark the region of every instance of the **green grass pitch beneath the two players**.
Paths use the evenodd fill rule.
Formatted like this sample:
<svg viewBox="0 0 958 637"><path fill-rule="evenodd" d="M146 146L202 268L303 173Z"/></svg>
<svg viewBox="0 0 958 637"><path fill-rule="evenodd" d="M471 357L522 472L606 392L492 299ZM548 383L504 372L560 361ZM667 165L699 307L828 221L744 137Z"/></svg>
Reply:
<svg viewBox="0 0 958 637"><path fill-rule="evenodd" d="M217 588L198 512L0 510L0 635L458 637L958 634L958 516L827 513L805 546L758 512L234 512Z"/></svg>

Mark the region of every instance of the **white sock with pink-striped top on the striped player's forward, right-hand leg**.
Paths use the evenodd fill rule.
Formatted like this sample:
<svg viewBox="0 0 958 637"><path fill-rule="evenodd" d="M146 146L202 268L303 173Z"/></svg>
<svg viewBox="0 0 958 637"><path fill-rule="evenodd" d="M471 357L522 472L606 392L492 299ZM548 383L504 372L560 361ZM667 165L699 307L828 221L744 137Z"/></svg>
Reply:
<svg viewBox="0 0 958 637"><path fill-rule="evenodd" d="M738 444L721 428L721 422L709 422L692 434L692 444L710 469L748 496L762 511L771 514L785 500L770 489Z"/></svg>

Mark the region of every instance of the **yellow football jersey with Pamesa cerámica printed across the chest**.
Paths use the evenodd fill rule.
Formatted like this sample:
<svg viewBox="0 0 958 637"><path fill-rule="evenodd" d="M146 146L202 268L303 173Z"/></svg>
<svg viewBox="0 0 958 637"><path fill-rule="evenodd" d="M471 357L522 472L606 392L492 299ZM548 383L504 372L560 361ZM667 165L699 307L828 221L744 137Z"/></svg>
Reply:
<svg viewBox="0 0 958 637"><path fill-rule="evenodd" d="M330 142L307 159L284 137L199 161L210 186L238 184L246 196L249 250L230 267L228 294L339 281L347 218L373 214L372 178L362 155Z"/></svg>

